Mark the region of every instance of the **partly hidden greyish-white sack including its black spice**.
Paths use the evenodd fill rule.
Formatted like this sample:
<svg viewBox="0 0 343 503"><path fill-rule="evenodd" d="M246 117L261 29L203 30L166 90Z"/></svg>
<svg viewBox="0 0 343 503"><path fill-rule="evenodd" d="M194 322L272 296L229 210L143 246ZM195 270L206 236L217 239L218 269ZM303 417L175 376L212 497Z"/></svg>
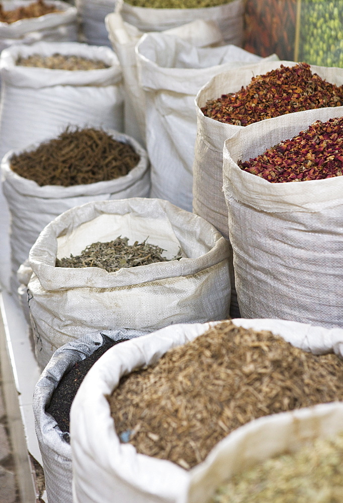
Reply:
<svg viewBox="0 0 343 503"><path fill-rule="evenodd" d="M55 351L33 395L33 411L49 501L72 503L69 414L89 369L112 346L144 332L121 328L85 334Z"/></svg>

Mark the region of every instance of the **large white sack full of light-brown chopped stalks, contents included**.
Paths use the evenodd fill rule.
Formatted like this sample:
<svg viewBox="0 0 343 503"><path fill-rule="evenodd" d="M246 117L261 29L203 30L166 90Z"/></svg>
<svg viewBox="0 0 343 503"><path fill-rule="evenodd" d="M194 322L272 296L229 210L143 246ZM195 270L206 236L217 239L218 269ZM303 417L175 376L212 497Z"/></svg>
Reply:
<svg viewBox="0 0 343 503"><path fill-rule="evenodd" d="M71 406L74 500L185 501L197 467L243 425L342 400L342 342L341 329L234 319L171 325L111 348ZM263 451L267 440L252 442Z"/></svg>

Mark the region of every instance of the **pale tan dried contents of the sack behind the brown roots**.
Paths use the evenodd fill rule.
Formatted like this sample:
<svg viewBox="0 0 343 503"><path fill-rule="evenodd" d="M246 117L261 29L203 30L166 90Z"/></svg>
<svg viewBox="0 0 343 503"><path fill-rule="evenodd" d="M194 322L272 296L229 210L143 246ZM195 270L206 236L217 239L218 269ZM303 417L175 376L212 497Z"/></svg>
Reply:
<svg viewBox="0 0 343 503"><path fill-rule="evenodd" d="M42 56L41 54L31 54L28 57L20 56L16 64L18 66L33 66L53 70L98 70L109 68L109 65L100 59L89 59L82 56L58 53L51 56Z"/></svg>

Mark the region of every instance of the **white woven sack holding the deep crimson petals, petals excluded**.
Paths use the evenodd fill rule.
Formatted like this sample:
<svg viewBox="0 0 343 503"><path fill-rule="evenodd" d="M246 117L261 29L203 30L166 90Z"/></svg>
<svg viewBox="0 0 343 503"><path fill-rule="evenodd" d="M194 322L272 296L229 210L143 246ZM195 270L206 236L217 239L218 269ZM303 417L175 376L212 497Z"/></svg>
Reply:
<svg viewBox="0 0 343 503"><path fill-rule="evenodd" d="M236 291L244 318L343 327L343 177L270 183L242 171L248 160L343 107L307 110L242 128L224 144Z"/></svg>

